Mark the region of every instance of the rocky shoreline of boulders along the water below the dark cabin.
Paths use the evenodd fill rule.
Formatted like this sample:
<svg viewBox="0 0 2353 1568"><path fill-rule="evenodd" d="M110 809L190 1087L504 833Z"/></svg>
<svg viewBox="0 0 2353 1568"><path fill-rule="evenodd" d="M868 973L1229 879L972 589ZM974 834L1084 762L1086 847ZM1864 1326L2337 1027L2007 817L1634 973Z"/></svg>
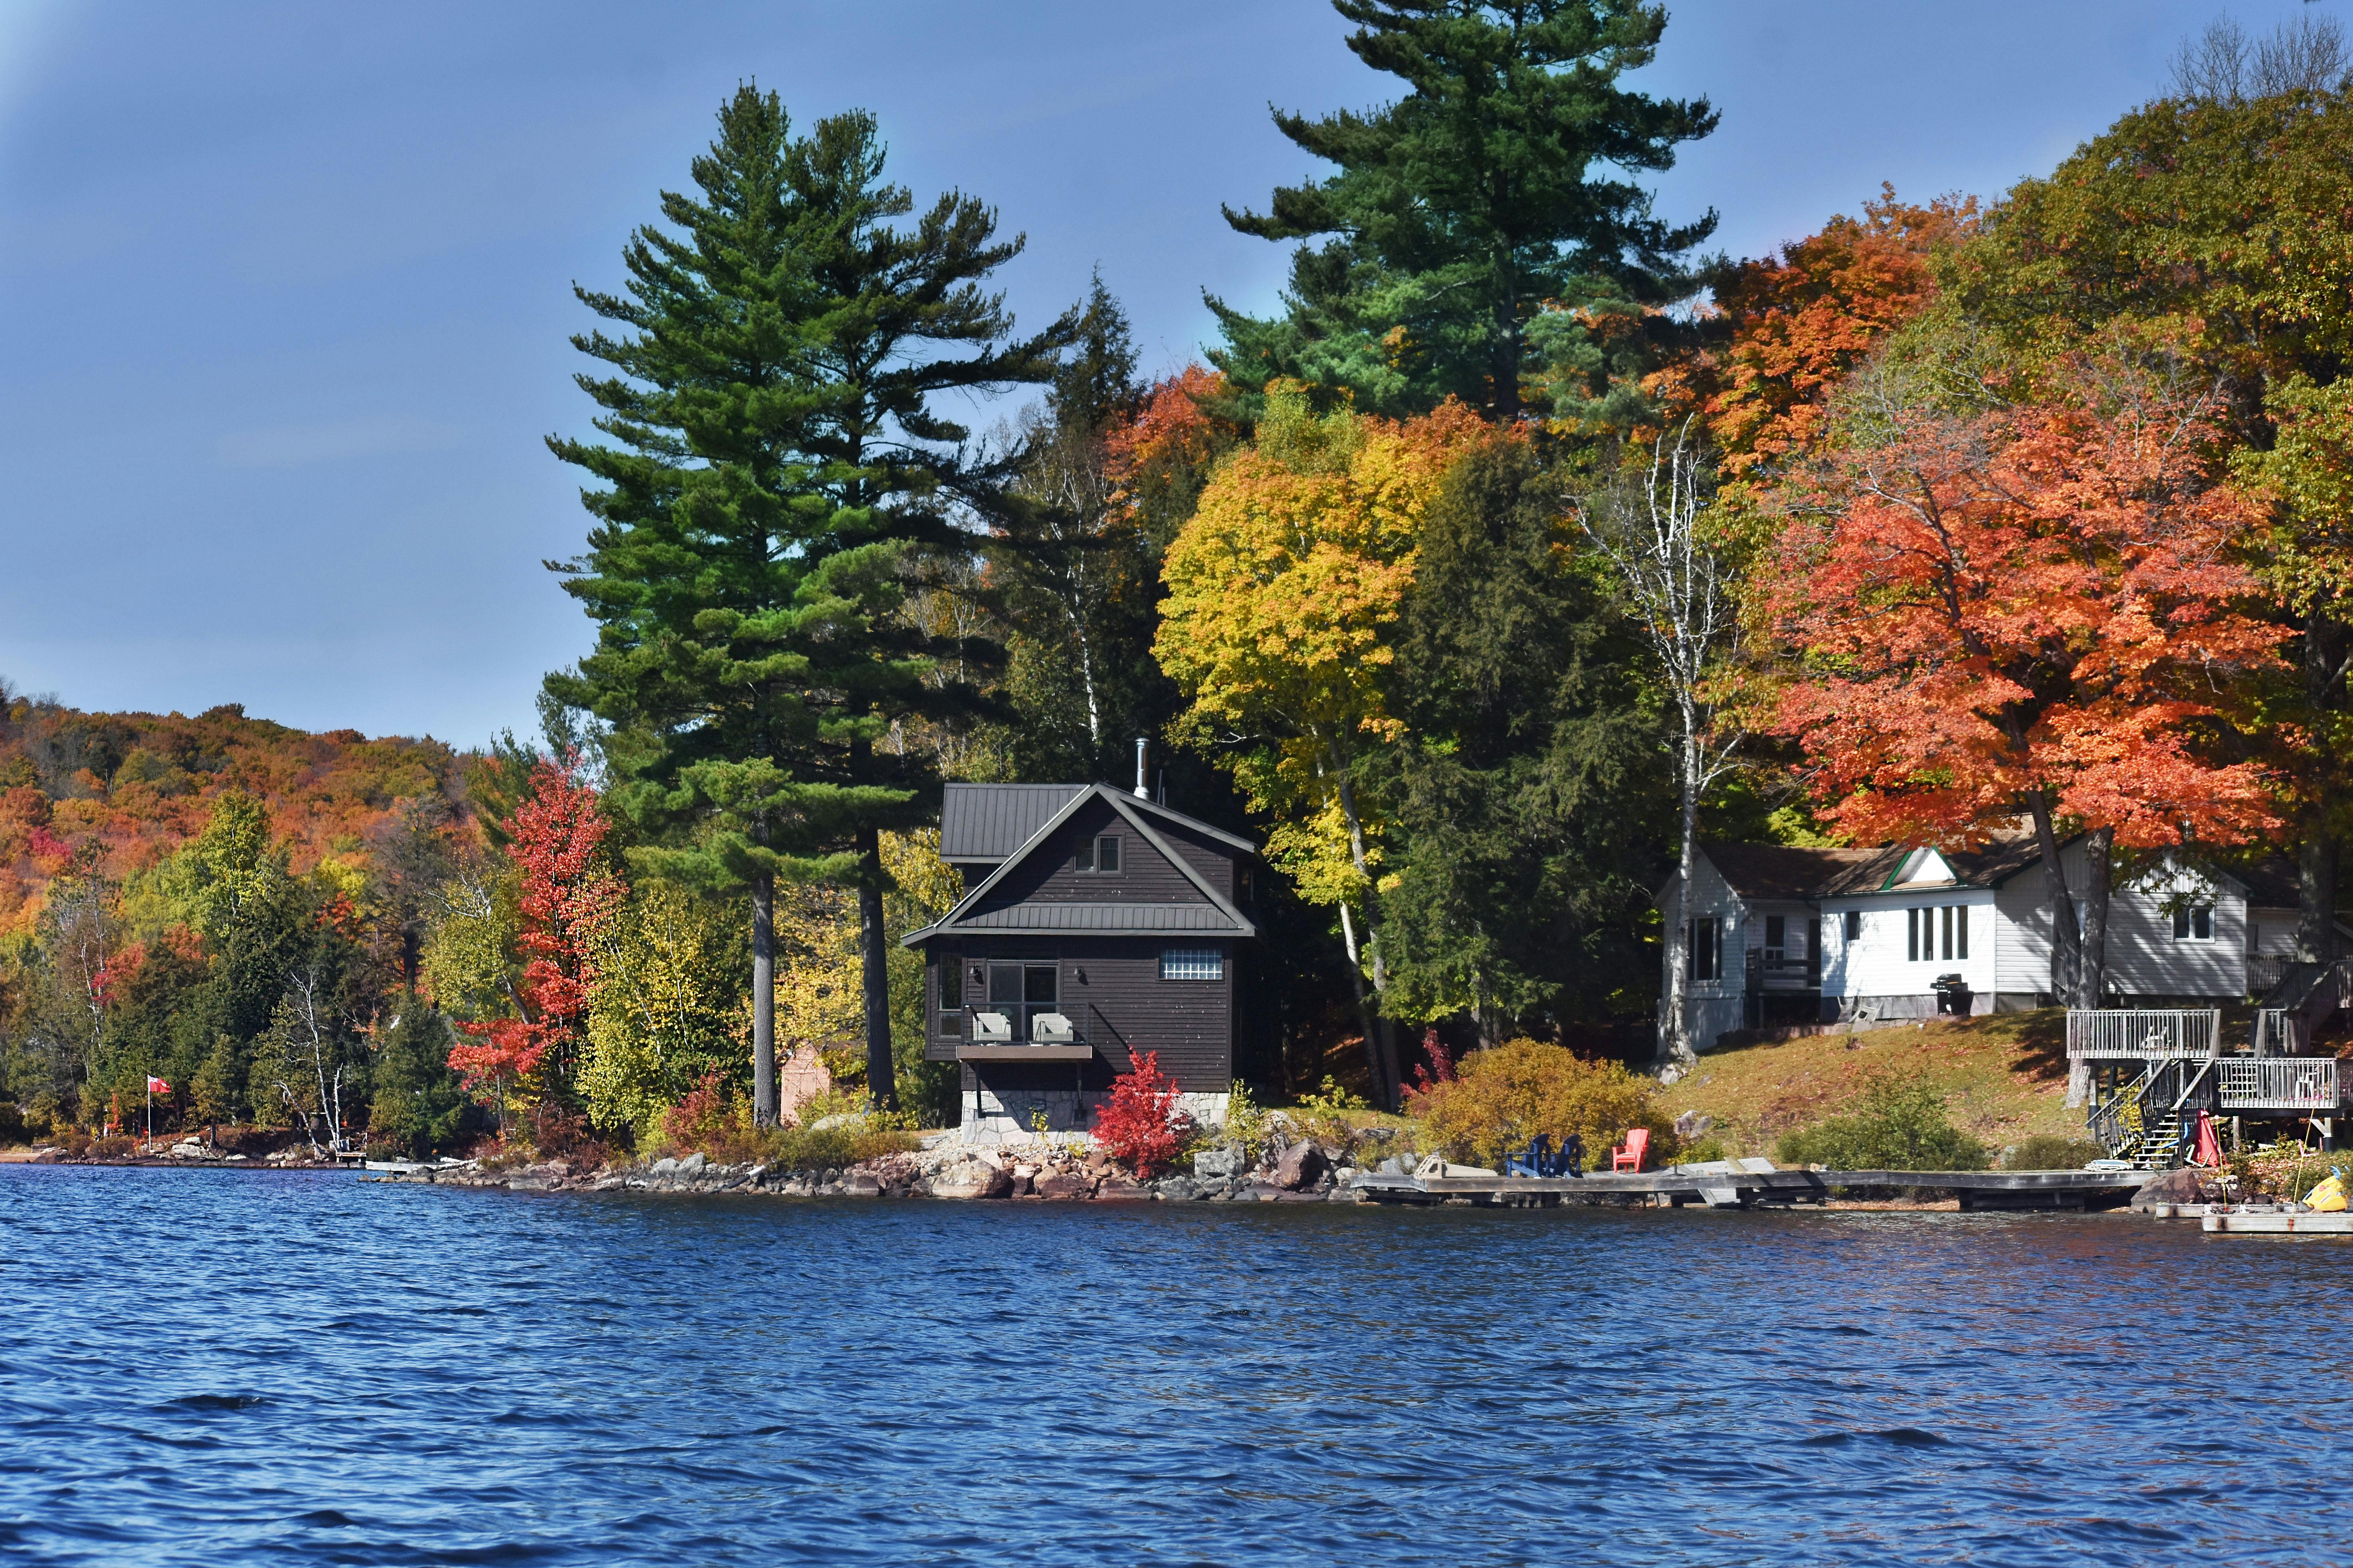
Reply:
<svg viewBox="0 0 2353 1568"><path fill-rule="evenodd" d="M784 1171L722 1166L704 1154L628 1166L581 1166L551 1159L527 1166L482 1164L372 1171L367 1180L433 1187L499 1187L506 1192L668 1192L696 1197L901 1197L901 1199L1031 1199L1031 1201L1162 1201L1162 1204L1355 1204L1351 1166L1315 1143L1294 1143L1273 1161L1249 1164L1238 1147L1193 1157L1193 1171L1136 1180L1101 1152L1061 1145L995 1150L939 1147L887 1154L859 1166Z"/></svg>

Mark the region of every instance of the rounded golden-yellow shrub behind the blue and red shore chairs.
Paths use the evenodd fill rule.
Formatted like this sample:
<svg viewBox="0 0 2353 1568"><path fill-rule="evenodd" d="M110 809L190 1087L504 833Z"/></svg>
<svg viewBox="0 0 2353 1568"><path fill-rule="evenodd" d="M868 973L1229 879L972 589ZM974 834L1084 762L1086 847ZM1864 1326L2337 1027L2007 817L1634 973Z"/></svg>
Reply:
<svg viewBox="0 0 2353 1568"><path fill-rule="evenodd" d="M1412 1098L1426 1147L1501 1168L1537 1133L1584 1138L1586 1161L1607 1159L1628 1128L1649 1128L1649 1159L1675 1152L1675 1124L1659 1086L1619 1063L1588 1063L1565 1046L1508 1039L1464 1058L1457 1077Z"/></svg>

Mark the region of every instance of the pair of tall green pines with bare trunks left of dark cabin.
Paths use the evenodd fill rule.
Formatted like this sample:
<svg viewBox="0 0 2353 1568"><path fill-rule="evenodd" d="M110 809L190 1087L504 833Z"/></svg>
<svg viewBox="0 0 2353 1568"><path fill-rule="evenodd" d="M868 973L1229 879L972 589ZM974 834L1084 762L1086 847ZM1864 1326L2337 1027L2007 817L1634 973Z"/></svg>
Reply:
<svg viewBox="0 0 2353 1568"><path fill-rule="evenodd" d="M927 759L894 724L955 722L901 614L927 557L962 550L951 510L998 475L962 463L939 393L1045 381L1071 327L1012 341L981 280L1021 249L979 200L941 195L913 228L866 113L791 136L776 94L741 87L664 193L675 233L640 228L628 294L579 289L624 336L574 339L607 442L551 437L605 489L588 557L560 567L598 649L548 691L616 726L619 809L666 844L633 858L753 903L753 1105L776 1112L776 882L859 891L871 1084L892 1098L880 832L932 811Z"/></svg>

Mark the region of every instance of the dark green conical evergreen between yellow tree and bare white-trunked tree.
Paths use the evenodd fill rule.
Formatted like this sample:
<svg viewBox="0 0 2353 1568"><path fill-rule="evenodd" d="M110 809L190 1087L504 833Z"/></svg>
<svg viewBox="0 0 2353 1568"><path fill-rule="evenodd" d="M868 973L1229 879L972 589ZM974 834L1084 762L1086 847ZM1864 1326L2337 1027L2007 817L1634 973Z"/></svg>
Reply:
<svg viewBox="0 0 2353 1568"><path fill-rule="evenodd" d="M1612 1011L1645 971L1638 917L1668 835L1638 649L1569 527L1565 475L1527 442L1457 463L1421 524L1393 665L1412 736L1379 755L1405 842L1386 1006L1466 1009L1487 1044Z"/></svg>

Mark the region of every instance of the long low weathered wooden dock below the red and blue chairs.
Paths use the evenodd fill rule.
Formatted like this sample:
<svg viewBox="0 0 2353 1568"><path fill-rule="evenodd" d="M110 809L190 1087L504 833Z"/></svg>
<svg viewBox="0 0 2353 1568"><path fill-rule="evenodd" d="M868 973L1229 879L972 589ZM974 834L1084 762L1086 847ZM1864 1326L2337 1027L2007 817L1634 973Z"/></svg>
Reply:
<svg viewBox="0 0 2353 1568"><path fill-rule="evenodd" d="M1965 1211L2113 1208L2129 1204L2153 1171L1774 1171L1772 1161L1711 1161L1595 1175L1358 1175L1372 1204L1473 1204L1558 1208L1562 1204L1786 1208L1826 1204L1831 1190L1944 1192Z"/></svg>

